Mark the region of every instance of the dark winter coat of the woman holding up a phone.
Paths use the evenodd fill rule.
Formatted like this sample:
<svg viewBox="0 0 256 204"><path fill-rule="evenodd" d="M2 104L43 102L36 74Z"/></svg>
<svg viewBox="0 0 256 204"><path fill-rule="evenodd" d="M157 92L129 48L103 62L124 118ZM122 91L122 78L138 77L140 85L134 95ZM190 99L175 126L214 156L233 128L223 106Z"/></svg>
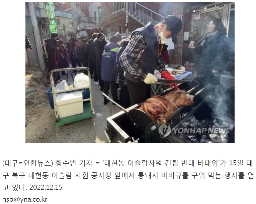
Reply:
<svg viewBox="0 0 256 204"><path fill-rule="evenodd" d="M226 35L225 31L217 32L209 37L203 46L194 49L197 54L201 55L197 75L220 78L229 59L230 46ZM212 70L218 71L218 74L213 74Z"/></svg>

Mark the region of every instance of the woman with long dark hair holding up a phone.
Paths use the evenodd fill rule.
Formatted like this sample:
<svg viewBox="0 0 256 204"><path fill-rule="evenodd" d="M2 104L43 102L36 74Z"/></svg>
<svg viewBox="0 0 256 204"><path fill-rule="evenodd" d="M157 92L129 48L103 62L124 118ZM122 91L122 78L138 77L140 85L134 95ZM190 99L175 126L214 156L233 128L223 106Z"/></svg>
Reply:
<svg viewBox="0 0 256 204"><path fill-rule="evenodd" d="M229 59L230 46L226 35L222 20L215 18L208 24L207 33L199 41L200 45L189 46L201 55L197 75L212 78L212 83L220 82L220 76Z"/></svg>

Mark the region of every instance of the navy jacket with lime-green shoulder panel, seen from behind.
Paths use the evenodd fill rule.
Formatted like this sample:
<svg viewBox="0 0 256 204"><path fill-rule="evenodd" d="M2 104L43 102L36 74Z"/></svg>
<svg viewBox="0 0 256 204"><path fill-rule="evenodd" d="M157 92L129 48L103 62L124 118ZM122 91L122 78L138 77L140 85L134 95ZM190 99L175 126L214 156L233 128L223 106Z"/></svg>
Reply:
<svg viewBox="0 0 256 204"><path fill-rule="evenodd" d="M104 46L101 61L101 79L103 81L115 81L115 74L112 74L112 69L119 47L120 46L114 42L109 42Z"/></svg>

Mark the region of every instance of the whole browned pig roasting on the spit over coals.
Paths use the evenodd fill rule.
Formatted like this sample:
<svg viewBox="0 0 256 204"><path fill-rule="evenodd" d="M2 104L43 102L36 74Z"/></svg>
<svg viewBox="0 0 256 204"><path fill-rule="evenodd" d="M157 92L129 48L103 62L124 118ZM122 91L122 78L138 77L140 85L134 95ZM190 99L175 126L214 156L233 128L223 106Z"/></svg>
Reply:
<svg viewBox="0 0 256 204"><path fill-rule="evenodd" d="M158 124L165 124L173 112L181 106L193 104L193 96L185 91L175 90L170 93L154 95L147 99L139 108Z"/></svg>

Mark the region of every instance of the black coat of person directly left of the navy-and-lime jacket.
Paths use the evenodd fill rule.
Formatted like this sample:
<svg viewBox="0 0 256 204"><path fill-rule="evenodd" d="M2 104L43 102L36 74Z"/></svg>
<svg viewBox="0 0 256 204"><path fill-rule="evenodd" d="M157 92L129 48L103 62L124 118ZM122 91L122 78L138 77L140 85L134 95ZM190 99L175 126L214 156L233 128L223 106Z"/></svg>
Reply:
<svg viewBox="0 0 256 204"><path fill-rule="evenodd" d="M94 39L94 49L96 57L96 75L101 78L101 58L104 51L104 46L107 44L105 41L99 41L97 38Z"/></svg>

